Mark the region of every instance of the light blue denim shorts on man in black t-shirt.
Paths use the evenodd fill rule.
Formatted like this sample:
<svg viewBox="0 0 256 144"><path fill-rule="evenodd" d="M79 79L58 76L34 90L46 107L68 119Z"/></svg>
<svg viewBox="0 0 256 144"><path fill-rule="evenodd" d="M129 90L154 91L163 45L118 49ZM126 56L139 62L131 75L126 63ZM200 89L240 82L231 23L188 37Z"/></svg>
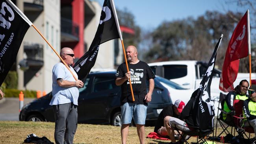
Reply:
<svg viewBox="0 0 256 144"><path fill-rule="evenodd" d="M121 116L122 124L130 124L133 116L135 124L145 125L147 105L126 102L121 105Z"/></svg>

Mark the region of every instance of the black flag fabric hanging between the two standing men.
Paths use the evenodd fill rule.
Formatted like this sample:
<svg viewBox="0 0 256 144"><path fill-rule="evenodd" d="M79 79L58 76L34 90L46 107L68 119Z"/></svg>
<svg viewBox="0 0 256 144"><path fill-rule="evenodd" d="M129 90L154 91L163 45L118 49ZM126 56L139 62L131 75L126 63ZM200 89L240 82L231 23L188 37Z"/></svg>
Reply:
<svg viewBox="0 0 256 144"><path fill-rule="evenodd" d="M84 81L89 74L91 68L94 66L100 44L109 41L111 39L120 38L115 16L113 14L113 8L109 0L105 0L98 29L89 50L74 64L74 70L78 74L78 79Z"/></svg>

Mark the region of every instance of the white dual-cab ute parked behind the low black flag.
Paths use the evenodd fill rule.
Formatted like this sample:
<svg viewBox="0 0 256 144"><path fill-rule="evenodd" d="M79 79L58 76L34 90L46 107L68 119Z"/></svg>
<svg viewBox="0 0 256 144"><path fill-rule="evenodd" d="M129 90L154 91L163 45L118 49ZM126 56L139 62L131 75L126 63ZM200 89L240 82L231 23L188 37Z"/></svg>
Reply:
<svg viewBox="0 0 256 144"><path fill-rule="evenodd" d="M202 61L161 61L149 63L148 65L156 75L174 81L187 89L194 90L199 88L200 82L208 68L208 63ZM211 81L211 98L217 102L219 102L220 92L224 93L219 89L220 77L221 70L215 67ZM252 84L255 84L256 73L252 73L251 78ZM238 73L236 81L234 81L234 87L243 79L249 81L249 73ZM227 92L224 94L227 94Z"/></svg>

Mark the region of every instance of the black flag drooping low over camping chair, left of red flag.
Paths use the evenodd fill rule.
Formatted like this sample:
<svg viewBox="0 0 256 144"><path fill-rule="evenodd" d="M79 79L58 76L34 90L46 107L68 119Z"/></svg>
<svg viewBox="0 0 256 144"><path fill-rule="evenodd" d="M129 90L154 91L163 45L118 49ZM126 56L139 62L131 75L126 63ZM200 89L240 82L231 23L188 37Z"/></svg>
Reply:
<svg viewBox="0 0 256 144"><path fill-rule="evenodd" d="M215 66L217 50L222 37L223 35L221 35L221 38L215 46L211 59L208 63L206 73L200 83L200 87L193 92L191 99L181 113L182 118L185 119L188 126L200 127L202 131L211 130L213 128L215 113L214 103L210 96L210 88L211 79L213 77L212 71Z"/></svg>

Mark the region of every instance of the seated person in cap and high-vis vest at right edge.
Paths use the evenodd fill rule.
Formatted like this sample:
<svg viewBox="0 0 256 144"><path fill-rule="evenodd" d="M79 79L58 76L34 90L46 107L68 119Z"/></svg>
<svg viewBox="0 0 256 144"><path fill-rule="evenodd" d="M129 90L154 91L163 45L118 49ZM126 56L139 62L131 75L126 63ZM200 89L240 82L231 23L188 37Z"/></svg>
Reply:
<svg viewBox="0 0 256 144"><path fill-rule="evenodd" d="M247 120L244 126L252 126L256 135L256 85L248 89L250 98L243 102L243 111Z"/></svg>

